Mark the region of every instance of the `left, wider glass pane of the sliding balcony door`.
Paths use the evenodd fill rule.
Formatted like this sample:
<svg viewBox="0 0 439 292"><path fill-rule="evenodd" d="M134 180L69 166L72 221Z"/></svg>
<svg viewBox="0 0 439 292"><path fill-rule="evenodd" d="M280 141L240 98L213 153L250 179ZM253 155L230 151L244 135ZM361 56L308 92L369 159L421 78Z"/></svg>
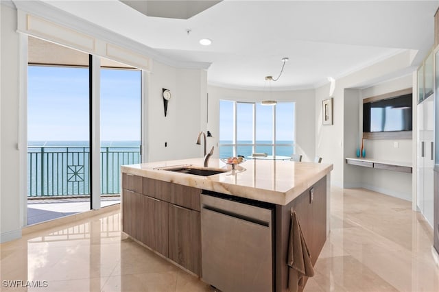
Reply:
<svg viewBox="0 0 439 292"><path fill-rule="evenodd" d="M89 210L88 67L28 66L27 105L27 223Z"/></svg>

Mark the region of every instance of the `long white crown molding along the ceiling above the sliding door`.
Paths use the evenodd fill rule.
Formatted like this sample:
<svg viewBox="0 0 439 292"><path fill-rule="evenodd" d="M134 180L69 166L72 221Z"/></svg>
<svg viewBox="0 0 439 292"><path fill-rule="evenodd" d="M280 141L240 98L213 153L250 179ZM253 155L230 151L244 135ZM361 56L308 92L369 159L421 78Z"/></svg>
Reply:
<svg viewBox="0 0 439 292"><path fill-rule="evenodd" d="M1 2L3 4L3 0L1 0ZM130 49L136 53L147 56L153 61L161 62L169 66L174 66L180 69L206 70L209 69L209 66L211 65L211 63L208 62L182 62L179 60L174 60L161 53L158 53L158 51L152 49L151 47L148 47L147 45L143 45L141 42L137 42L135 40L132 40L131 38L127 38L126 36L117 34L110 29L106 29L105 27L95 25L94 23L91 23L86 19L82 19L78 16L70 14L69 12L60 10L59 8L56 8L40 0L12 0L5 2L10 2L12 5L15 4L16 9L22 10L23 12L42 17L47 21L54 22L58 25L63 25L64 27L69 27L70 29L76 30L83 34L88 34L95 38L99 38L100 40L118 45L119 47Z"/></svg>

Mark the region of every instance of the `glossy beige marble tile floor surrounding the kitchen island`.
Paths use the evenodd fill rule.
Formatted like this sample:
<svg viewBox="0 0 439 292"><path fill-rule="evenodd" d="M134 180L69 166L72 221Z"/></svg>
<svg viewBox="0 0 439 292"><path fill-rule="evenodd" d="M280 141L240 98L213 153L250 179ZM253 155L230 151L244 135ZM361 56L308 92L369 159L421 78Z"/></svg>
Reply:
<svg viewBox="0 0 439 292"><path fill-rule="evenodd" d="M0 291L212 291L120 230L115 210L3 243ZM431 241L410 202L334 187L331 233L305 291L439 291Z"/></svg>

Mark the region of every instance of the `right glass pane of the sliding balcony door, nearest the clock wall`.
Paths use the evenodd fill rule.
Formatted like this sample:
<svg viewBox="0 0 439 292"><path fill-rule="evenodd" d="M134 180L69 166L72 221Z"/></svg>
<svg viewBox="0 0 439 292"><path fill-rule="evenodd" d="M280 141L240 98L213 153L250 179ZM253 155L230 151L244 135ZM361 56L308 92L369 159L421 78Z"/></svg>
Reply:
<svg viewBox="0 0 439 292"><path fill-rule="evenodd" d="M101 206L104 207L120 202L121 165L141 162L141 71L102 67L100 75Z"/></svg>

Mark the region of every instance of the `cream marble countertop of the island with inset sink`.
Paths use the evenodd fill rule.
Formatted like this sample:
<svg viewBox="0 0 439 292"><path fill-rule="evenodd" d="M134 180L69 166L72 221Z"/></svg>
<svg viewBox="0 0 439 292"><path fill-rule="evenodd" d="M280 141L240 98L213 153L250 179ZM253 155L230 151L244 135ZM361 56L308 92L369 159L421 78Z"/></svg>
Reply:
<svg viewBox="0 0 439 292"><path fill-rule="evenodd" d="M243 162L237 167L237 171L232 171L230 165L214 158L209 161L210 169L228 171L201 176L157 169L177 165L202 167L203 158L123 165L121 171L217 193L286 205L333 169L333 165L322 163L254 159Z"/></svg>

